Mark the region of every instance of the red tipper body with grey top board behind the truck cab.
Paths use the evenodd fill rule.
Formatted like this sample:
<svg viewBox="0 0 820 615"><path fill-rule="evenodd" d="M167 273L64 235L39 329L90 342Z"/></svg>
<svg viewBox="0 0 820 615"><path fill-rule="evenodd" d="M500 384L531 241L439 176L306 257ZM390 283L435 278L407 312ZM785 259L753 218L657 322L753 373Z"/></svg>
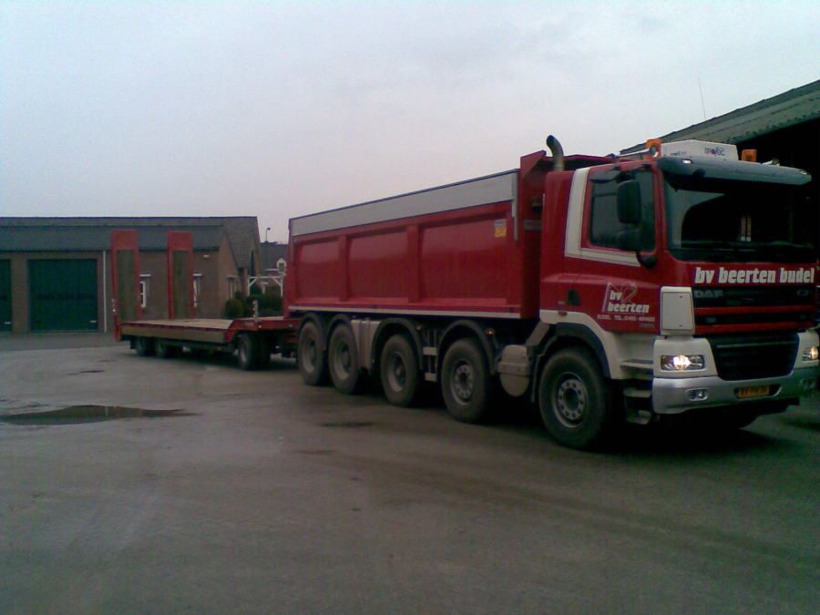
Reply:
<svg viewBox="0 0 820 615"><path fill-rule="evenodd" d="M548 159L523 161L533 158L529 168L291 220L287 308L537 318Z"/></svg>

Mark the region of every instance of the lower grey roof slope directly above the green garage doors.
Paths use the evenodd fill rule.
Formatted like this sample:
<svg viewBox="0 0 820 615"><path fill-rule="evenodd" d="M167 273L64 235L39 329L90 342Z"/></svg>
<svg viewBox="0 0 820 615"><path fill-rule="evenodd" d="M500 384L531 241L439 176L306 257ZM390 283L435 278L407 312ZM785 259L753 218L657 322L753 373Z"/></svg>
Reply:
<svg viewBox="0 0 820 615"><path fill-rule="evenodd" d="M22 225L5 224L0 218L0 251L104 251L111 247L113 226L80 225ZM169 227L140 226L137 231L140 250L164 251L168 245ZM220 224L209 226L174 226L174 231L190 231L194 250L219 250L227 235Z"/></svg>

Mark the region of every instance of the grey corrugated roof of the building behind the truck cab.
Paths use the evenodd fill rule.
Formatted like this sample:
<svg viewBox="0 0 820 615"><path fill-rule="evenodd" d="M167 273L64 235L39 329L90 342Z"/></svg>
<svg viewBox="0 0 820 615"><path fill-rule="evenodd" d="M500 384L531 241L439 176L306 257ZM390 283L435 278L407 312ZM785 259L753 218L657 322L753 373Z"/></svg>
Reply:
<svg viewBox="0 0 820 615"><path fill-rule="evenodd" d="M681 141L698 138L718 143L743 143L765 133L820 118L820 79L795 87L775 97L735 109L717 118L707 119L689 128L663 135L661 141ZM644 149L635 145L621 149L622 154Z"/></svg>

